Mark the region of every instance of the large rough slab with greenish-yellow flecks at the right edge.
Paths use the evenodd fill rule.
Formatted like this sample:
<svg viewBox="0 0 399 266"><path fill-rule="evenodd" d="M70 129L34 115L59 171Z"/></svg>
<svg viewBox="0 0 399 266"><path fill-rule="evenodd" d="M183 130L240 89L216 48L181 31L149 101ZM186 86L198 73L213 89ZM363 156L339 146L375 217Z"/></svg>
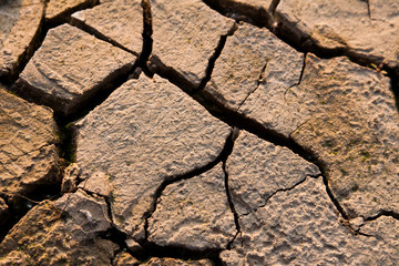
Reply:
<svg viewBox="0 0 399 266"><path fill-rule="evenodd" d="M348 214L398 212L398 178L392 176L399 176L399 114L389 80L346 58L309 55L303 81L287 100L311 106L291 137L323 162Z"/></svg>

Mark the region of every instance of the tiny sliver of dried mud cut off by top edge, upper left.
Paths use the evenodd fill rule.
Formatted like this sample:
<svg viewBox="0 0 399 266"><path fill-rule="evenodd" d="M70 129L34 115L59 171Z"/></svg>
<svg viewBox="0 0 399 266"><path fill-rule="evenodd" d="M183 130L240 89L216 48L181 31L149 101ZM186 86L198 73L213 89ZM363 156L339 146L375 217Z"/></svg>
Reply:
<svg viewBox="0 0 399 266"><path fill-rule="evenodd" d="M93 6L98 0L49 0L45 7L45 19L57 20L74 9Z"/></svg>

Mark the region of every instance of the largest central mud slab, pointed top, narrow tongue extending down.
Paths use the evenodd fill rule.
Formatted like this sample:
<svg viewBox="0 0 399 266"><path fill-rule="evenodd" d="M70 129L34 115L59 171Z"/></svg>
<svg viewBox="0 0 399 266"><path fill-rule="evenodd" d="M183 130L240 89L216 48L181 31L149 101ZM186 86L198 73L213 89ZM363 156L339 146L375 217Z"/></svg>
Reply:
<svg viewBox="0 0 399 266"><path fill-rule="evenodd" d="M144 237L144 215L157 187L213 162L229 127L178 88L141 76L117 89L78 124L83 175L105 174L116 226Z"/></svg>

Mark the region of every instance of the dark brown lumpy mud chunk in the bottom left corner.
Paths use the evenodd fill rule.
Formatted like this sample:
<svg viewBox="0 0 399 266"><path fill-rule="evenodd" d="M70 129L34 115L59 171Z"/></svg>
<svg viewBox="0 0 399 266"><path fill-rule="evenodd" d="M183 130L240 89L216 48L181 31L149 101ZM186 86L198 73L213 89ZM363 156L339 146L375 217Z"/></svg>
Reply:
<svg viewBox="0 0 399 266"><path fill-rule="evenodd" d="M33 207L0 244L0 265L111 265L117 246L103 198L82 191Z"/></svg>

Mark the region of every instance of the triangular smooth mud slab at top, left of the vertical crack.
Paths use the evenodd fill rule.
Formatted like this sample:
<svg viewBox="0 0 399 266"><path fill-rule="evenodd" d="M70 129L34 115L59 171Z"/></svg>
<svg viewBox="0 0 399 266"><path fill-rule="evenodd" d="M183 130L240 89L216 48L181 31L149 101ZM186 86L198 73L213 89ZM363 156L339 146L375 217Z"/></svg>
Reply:
<svg viewBox="0 0 399 266"><path fill-rule="evenodd" d="M72 16L73 23L89 27L93 32L139 55L143 49L143 9L140 0L115 0Z"/></svg>

